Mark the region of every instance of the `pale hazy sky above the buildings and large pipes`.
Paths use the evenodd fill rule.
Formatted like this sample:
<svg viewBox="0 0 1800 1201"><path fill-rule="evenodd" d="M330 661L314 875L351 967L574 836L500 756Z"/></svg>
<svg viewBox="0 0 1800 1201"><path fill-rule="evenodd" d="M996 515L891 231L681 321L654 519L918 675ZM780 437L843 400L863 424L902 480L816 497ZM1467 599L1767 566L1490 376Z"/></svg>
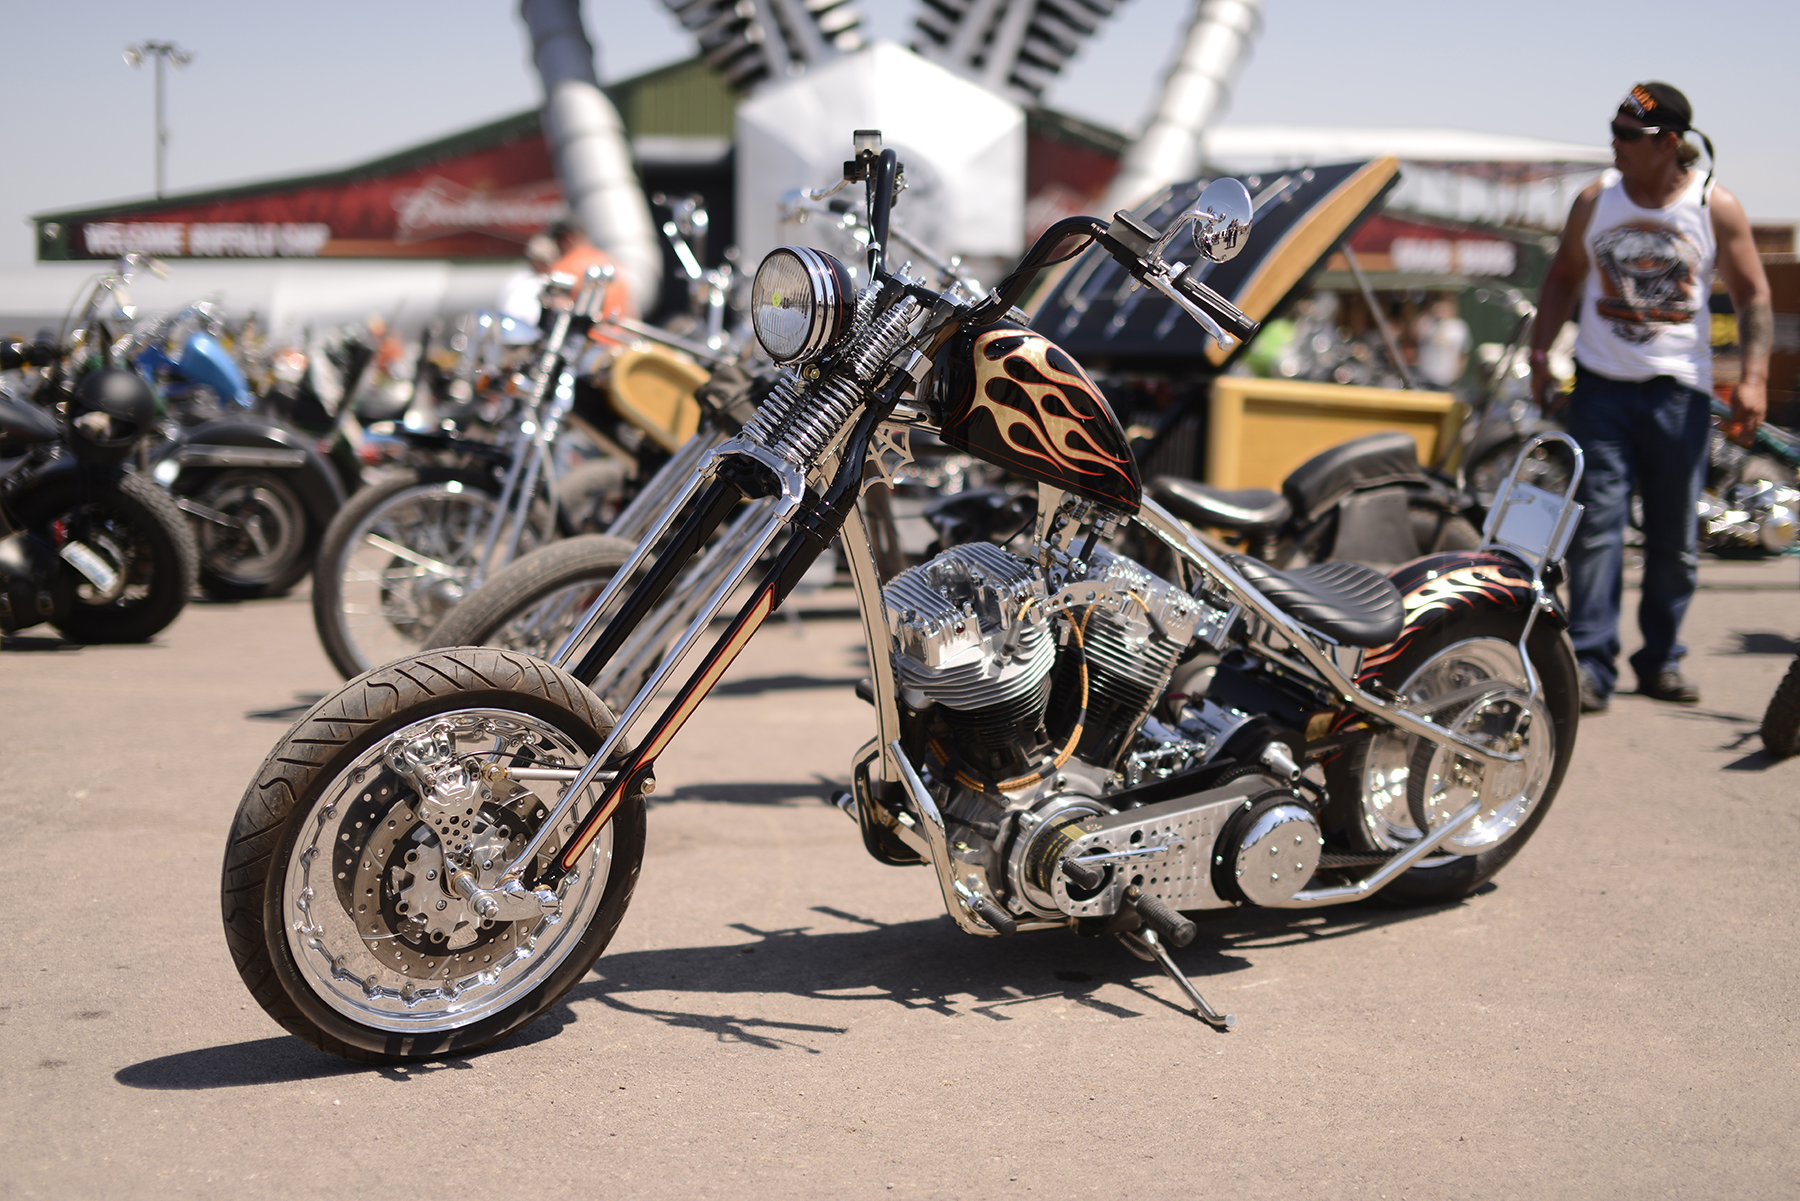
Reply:
<svg viewBox="0 0 1800 1201"><path fill-rule="evenodd" d="M907 40L913 4L860 0L875 36ZM686 58L657 0L587 0L603 77ZM1049 97L1136 128L1186 25L1190 0L1125 0ZM128 41L194 52L171 74L169 189L322 169L450 133L536 103L506 0L11 0L0 112L0 266L31 261L34 211L148 194L149 68ZM1694 101L1719 178L1753 218L1800 220L1791 104L1800 4L1638 0L1267 0L1265 27L1229 119L1433 124L1598 144L1636 79Z"/></svg>

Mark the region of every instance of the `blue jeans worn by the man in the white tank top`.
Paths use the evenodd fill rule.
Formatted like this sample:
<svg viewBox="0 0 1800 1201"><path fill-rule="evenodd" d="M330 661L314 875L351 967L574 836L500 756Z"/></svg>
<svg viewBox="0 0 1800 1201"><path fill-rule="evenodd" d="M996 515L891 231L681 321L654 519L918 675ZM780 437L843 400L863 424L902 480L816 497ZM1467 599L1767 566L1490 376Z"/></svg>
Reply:
<svg viewBox="0 0 1800 1201"><path fill-rule="evenodd" d="M1679 670L1681 618L1699 580L1696 502L1712 429L1706 393L1660 375L1609 380L1577 369L1568 429L1580 443L1586 506L1570 544L1570 639L1602 697L1618 684L1618 610L1625 585L1631 490L1643 497L1643 598L1631 655L1638 682Z"/></svg>

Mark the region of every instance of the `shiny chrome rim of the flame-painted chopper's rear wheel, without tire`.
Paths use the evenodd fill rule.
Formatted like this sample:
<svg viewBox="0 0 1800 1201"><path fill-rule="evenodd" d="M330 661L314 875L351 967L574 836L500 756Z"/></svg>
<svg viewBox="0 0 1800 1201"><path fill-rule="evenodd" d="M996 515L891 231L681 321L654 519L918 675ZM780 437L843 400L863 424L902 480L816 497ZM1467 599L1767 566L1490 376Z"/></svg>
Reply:
<svg viewBox="0 0 1800 1201"><path fill-rule="evenodd" d="M1474 855L1517 834L1550 783L1557 736L1544 699L1526 704L1517 645L1498 637L1453 643L1420 664L1400 693L1440 726L1519 751L1523 760L1483 767L1424 738L1377 735L1363 763L1361 819L1370 844L1400 850L1420 828L1440 826L1474 799L1481 808L1444 841L1445 852Z"/></svg>

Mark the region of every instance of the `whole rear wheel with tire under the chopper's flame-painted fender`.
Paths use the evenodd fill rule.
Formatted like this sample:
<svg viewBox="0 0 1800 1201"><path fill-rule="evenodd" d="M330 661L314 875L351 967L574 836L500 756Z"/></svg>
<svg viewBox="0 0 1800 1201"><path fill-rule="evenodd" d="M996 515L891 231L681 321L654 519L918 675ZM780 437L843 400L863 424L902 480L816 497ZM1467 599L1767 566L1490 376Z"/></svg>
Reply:
<svg viewBox="0 0 1800 1201"><path fill-rule="evenodd" d="M1381 891L1411 904L1467 897L1532 837L1568 771L1580 720L1580 677L1566 634L1546 619L1526 643L1539 693L1519 663L1523 612L1476 614L1413 639L1381 670L1381 684L1440 726L1521 754L1481 767L1433 742L1377 731L1327 767L1327 826L1352 852L1397 853L1445 817L1481 810L1424 861Z"/></svg>

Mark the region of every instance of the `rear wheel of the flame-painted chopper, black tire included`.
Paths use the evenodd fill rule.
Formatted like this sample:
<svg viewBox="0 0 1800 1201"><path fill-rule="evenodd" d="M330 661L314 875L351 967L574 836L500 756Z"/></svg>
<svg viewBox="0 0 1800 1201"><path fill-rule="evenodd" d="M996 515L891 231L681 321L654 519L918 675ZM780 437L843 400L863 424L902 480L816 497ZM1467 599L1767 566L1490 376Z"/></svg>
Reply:
<svg viewBox="0 0 1800 1201"><path fill-rule="evenodd" d="M1523 681L1517 679L1523 675L1517 670L1517 655L1507 652L1505 646L1507 643L1516 646L1523 630L1523 612L1485 612L1445 623L1417 637L1400 655L1384 664L1379 681L1400 695L1417 695L1427 709L1429 700L1426 699L1433 695L1429 682L1436 682L1436 675L1442 675L1444 681L1456 681L1458 688L1492 679L1496 686L1512 686L1516 691L1523 691ZM1544 814L1550 812L1550 803L1555 799L1575 753L1575 731L1580 722L1580 675L1568 636L1548 621L1539 619L1532 627L1528 648L1543 688L1539 699L1543 713L1526 727L1521 749L1528 762L1517 796L1534 792L1535 796L1525 805L1516 805L1510 816L1481 812L1478 821L1490 823L1489 830L1510 828L1510 834L1490 835L1494 841L1487 850L1454 857L1427 857L1427 862L1436 861L1435 866L1402 873L1377 897L1400 904L1460 900L1507 866L1543 823ZM1514 673L1512 677L1508 677L1508 670ZM1469 713L1476 708L1481 706L1471 706ZM1496 706L1492 711L1499 713L1501 709ZM1462 718L1463 713L1445 713L1442 720L1456 722ZM1534 756L1532 744L1539 738L1543 718L1548 718L1552 745L1539 744L1537 756ZM1476 727L1472 726L1472 729ZM1418 837L1417 814L1420 810L1431 810L1427 817L1436 817L1442 812L1433 798L1424 796L1427 789L1420 787L1422 780L1415 780L1415 776L1435 763L1444 763L1440 769L1444 772L1456 771L1456 765L1445 763L1445 760L1442 751L1433 756L1433 745L1424 738L1406 738L1391 729L1375 733L1345 751L1328 763L1325 772L1330 794L1327 807L1330 837L1354 852L1402 850ZM1444 790L1451 792L1447 780L1433 778L1433 783L1444 783ZM1485 785L1487 781L1483 781ZM1503 792L1510 792L1510 787ZM1462 807L1456 801L1444 805L1447 808ZM1431 821L1431 825L1436 823Z"/></svg>

